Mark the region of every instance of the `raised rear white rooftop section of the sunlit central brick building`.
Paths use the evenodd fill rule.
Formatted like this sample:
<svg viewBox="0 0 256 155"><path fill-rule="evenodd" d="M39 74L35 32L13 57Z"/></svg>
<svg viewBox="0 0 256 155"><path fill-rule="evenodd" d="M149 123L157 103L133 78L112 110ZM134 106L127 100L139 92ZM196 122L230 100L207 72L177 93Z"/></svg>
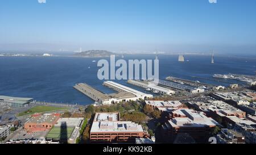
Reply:
<svg viewBox="0 0 256 155"><path fill-rule="evenodd" d="M100 122L100 121L119 121L119 113L118 112L98 112L94 116L94 122Z"/></svg>

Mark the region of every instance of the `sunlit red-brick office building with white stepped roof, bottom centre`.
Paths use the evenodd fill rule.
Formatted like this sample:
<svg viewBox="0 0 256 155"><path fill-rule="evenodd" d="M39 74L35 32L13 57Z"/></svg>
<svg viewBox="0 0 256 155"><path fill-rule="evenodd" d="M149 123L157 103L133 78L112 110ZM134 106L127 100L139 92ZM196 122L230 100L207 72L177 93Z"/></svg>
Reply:
<svg viewBox="0 0 256 155"><path fill-rule="evenodd" d="M148 137L142 125L119 121L118 113L96 113L90 129L90 141L94 143L127 142Z"/></svg>

